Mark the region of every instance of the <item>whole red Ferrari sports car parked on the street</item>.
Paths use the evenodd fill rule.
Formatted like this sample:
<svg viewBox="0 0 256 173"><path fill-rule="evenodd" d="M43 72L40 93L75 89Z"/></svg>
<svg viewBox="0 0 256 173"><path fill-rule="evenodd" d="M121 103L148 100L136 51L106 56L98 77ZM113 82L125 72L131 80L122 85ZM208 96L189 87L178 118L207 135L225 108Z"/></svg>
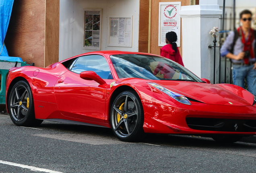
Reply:
<svg viewBox="0 0 256 173"><path fill-rule="evenodd" d="M46 68L13 67L6 83L13 123L43 120L111 128L122 141L143 133L204 135L235 142L256 135L256 97L210 84L154 54L89 52Z"/></svg>

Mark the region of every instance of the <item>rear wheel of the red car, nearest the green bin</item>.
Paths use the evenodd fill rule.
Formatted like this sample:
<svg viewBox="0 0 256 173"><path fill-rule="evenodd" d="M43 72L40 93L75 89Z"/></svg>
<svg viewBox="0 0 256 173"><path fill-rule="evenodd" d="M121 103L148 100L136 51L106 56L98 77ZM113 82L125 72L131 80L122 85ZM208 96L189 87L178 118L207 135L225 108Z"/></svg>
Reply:
<svg viewBox="0 0 256 173"><path fill-rule="evenodd" d="M17 126L38 126L43 120L35 119L33 95L29 84L20 80L12 87L8 99L10 119Z"/></svg>

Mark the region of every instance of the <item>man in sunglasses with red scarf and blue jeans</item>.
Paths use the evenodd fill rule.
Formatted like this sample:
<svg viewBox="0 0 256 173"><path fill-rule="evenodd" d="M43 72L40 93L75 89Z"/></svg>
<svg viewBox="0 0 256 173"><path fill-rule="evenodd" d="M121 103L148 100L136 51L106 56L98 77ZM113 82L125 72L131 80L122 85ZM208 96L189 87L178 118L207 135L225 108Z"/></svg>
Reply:
<svg viewBox="0 0 256 173"><path fill-rule="evenodd" d="M256 95L256 32L251 28L252 12L240 13L241 26L232 31L221 46L221 56L230 58L233 66L233 83Z"/></svg>

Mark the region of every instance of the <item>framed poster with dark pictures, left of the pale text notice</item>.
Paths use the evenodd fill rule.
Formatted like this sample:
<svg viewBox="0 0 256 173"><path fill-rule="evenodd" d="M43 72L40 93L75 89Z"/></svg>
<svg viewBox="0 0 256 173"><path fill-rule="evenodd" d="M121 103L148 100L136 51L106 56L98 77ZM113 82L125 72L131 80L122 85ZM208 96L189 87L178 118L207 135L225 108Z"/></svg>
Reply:
<svg viewBox="0 0 256 173"><path fill-rule="evenodd" d="M84 49L101 50L101 9L85 9Z"/></svg>

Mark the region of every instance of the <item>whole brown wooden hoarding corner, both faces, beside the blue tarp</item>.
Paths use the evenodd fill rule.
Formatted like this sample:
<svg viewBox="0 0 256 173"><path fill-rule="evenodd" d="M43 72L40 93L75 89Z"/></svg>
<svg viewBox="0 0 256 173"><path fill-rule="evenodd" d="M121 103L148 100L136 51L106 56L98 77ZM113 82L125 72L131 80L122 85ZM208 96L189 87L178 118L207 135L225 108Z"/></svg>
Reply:
<svg viewBox="0 0 256 173"><path fill-rule="evenodd" d="M58 62L59 0L15 0L5 44L9 56L45 67Z"/></svg>

